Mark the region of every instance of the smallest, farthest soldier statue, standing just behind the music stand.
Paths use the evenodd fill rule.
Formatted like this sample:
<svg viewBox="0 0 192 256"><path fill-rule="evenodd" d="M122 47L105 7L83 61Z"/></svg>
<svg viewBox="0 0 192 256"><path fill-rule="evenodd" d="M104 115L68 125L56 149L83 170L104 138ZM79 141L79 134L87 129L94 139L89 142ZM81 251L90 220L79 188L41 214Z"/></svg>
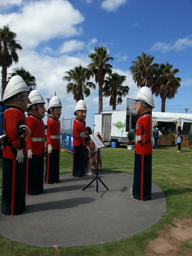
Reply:
<svg viewBox="0 0 192 256"><path fill-rule="evenodd" d="M73 125L73 166L72 175L82 177L84 175L84 146L86 128L86 104L84 100L79 100L76 104L74 115L76 119Z"/></svg>

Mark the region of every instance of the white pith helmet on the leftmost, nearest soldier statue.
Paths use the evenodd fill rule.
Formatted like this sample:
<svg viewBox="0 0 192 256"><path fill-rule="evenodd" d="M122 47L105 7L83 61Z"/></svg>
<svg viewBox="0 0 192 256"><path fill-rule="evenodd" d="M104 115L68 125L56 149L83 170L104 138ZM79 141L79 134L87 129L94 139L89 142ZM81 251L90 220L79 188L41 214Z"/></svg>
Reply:
<svg viewBox="0 0 192 256"><path fill-rule="evenodd" d="M21 76L13 76L4 90L3 101L21 92L29 92L29 87Z"/></svg>

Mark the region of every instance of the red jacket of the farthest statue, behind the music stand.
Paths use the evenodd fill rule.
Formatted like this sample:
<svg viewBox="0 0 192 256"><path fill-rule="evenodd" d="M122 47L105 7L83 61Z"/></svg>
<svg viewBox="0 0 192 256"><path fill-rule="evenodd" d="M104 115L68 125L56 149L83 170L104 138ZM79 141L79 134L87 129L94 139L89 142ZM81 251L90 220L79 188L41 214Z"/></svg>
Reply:
<svg viewBox="0 0 192 256"><path fill-rule="evenodd" d="M74 146L84 146L85 140L84 138L80 137L80 132L85 132L86 122L82 122L79 119L74 120L74 126L73 126L73 134L74 134L74 140L73 145Z"/></svg>

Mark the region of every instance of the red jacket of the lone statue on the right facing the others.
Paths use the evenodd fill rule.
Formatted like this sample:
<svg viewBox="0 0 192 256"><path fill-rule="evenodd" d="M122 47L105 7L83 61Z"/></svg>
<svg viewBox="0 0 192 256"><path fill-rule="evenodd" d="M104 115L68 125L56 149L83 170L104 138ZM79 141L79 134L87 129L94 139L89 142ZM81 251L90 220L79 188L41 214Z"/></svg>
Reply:
<svg viewBox="0 0 192 256"><path fill-rule="evenodd" d="M136 136L141 135L141 141L135 146L135 153L142 155L152 154L152 115L151 112L143 113L136 123Z"/></svg>

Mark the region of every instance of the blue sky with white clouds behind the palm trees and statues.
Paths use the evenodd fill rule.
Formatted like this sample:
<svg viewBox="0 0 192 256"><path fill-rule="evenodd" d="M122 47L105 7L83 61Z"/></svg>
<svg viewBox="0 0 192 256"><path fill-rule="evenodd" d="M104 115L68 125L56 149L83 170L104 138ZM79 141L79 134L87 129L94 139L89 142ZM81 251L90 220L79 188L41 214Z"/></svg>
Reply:
<svg viewBox="0 0 192 256"><path fill-rule="evenodd" d="M192 113L192 1L191 0L0 0L0 27L17 33L23 47L19 63L36 77L44 99L56 91L63 104L62 115L74 118L76 102L66 93L65 71L90 63L88 54L104 45L114 58L113 71L127 79L127 97L139 88L132 81L131 62L141 52L155 56L154 62L168 61L179 68L181 86L174 99L166 100L166 112ZM98 87L97 87L98 88ZM85 99L87 125L93 128L98 112L98 90ZM154 97L156 109L161 100ZM126 98L117 109L126 108ZM104 98L109 110L109 98Z"/></svg>

